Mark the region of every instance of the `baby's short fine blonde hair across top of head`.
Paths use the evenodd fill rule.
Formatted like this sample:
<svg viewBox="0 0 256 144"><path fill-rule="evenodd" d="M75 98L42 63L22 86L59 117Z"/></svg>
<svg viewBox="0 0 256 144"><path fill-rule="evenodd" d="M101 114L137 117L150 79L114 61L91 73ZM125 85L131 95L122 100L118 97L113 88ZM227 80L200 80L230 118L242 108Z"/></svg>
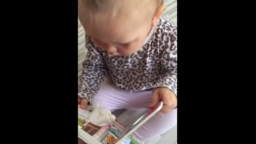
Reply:
<svg viewBox="0 0 256 144"><path fill-rule="evenodd" d="M84 26L138 9L148 9L146 16L153 17L159 5L163 5L163 0L78 0L78 17Z"/></svg>

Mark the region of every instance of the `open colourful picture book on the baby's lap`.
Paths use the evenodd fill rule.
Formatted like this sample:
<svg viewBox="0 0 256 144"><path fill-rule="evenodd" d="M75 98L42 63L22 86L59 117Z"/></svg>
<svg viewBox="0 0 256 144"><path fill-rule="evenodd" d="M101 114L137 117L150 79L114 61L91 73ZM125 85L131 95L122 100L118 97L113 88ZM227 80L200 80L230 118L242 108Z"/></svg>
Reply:
<svg viewBox="0 0 256 144"><path fill-rule="evenodd" d="M88 121L92 108L83 110L78 108L78 140L87 144L140 144L132 133L163 107L160 101L154 108L150 108L143 115L138 116L127 127L117 122L106 126L97 126Z"/></svg>

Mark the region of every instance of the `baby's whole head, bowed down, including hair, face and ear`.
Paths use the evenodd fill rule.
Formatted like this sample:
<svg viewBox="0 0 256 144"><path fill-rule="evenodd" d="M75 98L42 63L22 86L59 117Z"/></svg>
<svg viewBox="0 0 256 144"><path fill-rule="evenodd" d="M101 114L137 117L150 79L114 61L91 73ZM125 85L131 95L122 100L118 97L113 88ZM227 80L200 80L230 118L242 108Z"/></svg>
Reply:
<svg viewBox="0 0 256 144"><path fill-rule="evenodd" d="M111 55L131 55L164 8L163 0L78 0L78 17L96 46Z"/></svg>

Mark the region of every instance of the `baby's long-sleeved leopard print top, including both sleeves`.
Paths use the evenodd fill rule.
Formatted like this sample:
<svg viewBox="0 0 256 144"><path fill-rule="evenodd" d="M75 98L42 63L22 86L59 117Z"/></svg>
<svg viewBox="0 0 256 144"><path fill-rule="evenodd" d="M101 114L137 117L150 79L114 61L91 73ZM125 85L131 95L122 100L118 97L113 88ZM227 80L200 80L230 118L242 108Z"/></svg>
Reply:
<svg viewBox="0 0 256 144"><path fill-rule="evenodd" d="M88 50L79 77L78 97L92 105L105 76L111 85L124 91L153 90L166 87L177 95L177 26L161 17L153 35L137 53L112 56L94 47L85 36Z"/></svg>

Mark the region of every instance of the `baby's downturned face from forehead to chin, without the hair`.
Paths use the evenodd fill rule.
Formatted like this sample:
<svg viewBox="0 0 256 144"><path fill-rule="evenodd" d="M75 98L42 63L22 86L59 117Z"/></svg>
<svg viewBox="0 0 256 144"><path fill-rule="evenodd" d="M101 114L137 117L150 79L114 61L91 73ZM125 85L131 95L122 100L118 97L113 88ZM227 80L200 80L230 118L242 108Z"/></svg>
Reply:
<svg viewBox="0 0 256 144"><path fill-rule="evenodd" d="M115 56L139 51L151 29L150 20L143 20L136 14L121 16L85 29L95 46Z"/></svg>

